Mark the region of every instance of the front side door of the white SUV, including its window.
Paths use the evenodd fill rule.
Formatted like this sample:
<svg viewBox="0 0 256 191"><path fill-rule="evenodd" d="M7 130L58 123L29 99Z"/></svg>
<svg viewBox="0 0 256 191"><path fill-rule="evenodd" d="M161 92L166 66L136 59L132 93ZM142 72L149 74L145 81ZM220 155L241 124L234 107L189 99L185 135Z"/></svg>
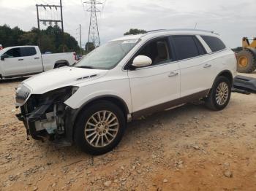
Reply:
<svg viewBox="0 0 256 191"><path fill-rule="evenodd" d="M180 72L178 63L173 61L169 39L151 40L136 55L148 56L152 65L128 71L132 112L143 114L167 109L170 101L180 97Z"/></svg>

